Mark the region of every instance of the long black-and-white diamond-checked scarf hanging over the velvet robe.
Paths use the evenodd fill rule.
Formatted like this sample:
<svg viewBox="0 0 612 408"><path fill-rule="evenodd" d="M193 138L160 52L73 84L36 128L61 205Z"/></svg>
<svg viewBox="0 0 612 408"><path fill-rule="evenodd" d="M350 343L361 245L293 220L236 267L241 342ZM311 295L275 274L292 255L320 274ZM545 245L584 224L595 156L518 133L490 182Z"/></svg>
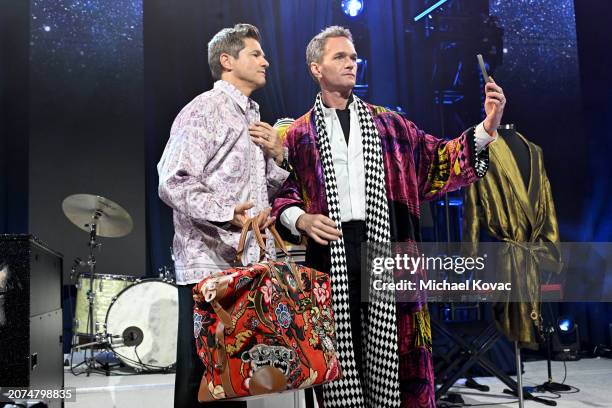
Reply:
<svg viewBox="0 0 612 408"><path fill-rule="evenodd" d="M385 169L378 130L374 125L367 105L357 97L355 104L359 118L363 143L363 162L366 183L366 226L368 243L384 244L390 241L389 210L385 188ZM323 166L325 191L329 217L341 228L338 185L332 162L331 144L323 116L321 94L314 105L317 129L317 147ZM367 319L362 318L362 333L351 333L349 313L349 287L344 252L344 240L330 242L331 281L333 311L336 320L336 350L344 376L323 386L325 407L381 408L399 407L399 354L397 346L397 324L395 294L391 291L375 291L370 285ZM367 250L367 265L375 256L372 248ZM383 249L384 252L386 252ZM391 272L377 277L392 282ZM365 351L362 387L353 350L353 335L363 335ZM365 392L365 395L363 395Z"/></svg>

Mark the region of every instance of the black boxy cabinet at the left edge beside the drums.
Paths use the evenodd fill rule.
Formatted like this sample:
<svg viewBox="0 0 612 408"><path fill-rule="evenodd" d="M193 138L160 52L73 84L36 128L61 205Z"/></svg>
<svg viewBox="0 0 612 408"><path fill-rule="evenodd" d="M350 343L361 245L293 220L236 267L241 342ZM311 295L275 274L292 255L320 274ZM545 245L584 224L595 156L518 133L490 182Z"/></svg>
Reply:
<svg viewBox="0 0 612 408"><path fill-rule="evenodd" d="M64 386L62 255L30 235L0 235L0 386Z"/></svg>

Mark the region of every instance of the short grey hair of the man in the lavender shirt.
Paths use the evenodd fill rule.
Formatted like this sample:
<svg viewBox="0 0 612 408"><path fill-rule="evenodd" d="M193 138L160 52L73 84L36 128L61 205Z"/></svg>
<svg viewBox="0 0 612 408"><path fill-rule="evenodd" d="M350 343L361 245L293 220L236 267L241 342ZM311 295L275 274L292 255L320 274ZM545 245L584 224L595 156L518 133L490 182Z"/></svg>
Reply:
<svg viewBox="0 0 612 408"><path fill-rule="evenodd" d="M244 48L244 39L252 38L261 42L259 30L251 24L236 24L234 27L219 31L208 43L208 66L214 80L221 79L223 67L219 58L221 54L229 54L238 58L238 53Z"/></svg>

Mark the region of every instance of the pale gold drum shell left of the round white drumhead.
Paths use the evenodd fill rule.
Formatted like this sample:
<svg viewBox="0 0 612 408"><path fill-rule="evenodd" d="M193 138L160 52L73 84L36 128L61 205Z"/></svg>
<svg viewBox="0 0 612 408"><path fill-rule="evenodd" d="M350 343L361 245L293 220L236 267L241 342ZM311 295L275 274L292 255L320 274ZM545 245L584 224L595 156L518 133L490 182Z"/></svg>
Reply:
<svg viewBox="0 0 612 408"><path fill-rule="evenodd" d="M76 313L73 331L77 335L89 335L89 280L91 274L82 273L77 278ZM133 276L95 274L92 286L94 334L103 333L108 308L119 292L132 285Z"/></svg>

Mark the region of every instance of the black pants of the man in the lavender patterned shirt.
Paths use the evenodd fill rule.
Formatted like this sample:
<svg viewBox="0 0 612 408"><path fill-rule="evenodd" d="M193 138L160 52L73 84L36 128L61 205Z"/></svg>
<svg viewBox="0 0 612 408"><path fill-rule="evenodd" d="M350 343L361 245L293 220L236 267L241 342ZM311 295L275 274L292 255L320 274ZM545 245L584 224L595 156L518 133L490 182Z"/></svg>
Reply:
<svg viewBox="0 0 612 408"><path fill-rule="evenodd" d="M174 382L175 408L218 407L246 408L244 401L219 401L200 404L198 390L204 366L198 357L193 337L193 297L195 285L178 287L179 321L176 342L176 379Z"/></svg>

